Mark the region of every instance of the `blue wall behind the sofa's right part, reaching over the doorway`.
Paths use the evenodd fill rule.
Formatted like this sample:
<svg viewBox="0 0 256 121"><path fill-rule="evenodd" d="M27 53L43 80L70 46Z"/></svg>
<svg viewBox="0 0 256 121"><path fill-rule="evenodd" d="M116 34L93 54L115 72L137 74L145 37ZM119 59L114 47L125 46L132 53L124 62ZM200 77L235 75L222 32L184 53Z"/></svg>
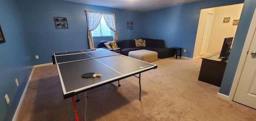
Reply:
<svg viewBox="0 0 256 121"><path fill-rule="evenodd" d="M193 58L200 10L243 2L244 0L202 0L146 12L143 37L165 40L166 47L182 47L183 50L186 49L182 56Z"/></svg>

